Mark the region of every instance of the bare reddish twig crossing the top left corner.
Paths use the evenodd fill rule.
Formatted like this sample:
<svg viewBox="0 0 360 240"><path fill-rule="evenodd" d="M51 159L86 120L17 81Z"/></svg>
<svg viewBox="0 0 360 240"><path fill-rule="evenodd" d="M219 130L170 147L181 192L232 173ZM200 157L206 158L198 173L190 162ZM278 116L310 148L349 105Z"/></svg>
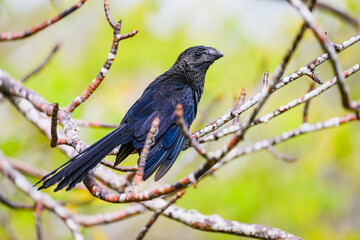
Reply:
<svg viewBox="0 0 360 240"><path fill-rule="evenodd" d="M85 2L86 2L86 0L80 0L75 5L69 7L68 9L62 11L61 13L53 16L52 18L49 18L48 20L46 20L28 30L18 31L18 32L1 33L0 41L13 41L13 40L18 40L18 39L24 39L35 33L38 33L41 30L47 28L48 26L56 23L57 21L61 20L64 17L66 17L70 13L74 12L76 9L80 8Z"/></svg>

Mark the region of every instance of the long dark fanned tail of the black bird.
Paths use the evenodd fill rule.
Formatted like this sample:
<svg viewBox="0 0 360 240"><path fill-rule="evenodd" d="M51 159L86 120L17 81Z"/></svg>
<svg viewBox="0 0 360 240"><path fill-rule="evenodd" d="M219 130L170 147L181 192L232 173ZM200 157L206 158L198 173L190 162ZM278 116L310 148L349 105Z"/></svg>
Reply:
<svg viewBox="0 0 360 240"><path fill-rule="evenodd" d="M114 131L112 131L84 151L80 152L78 155L76 155L63 165L61 165L59 168L44 176L35 185L43 182L43 185L39 187L40 190L43 188L48 188L56 184L57 182L60 182L54 190L55 192L63 189L66 186L68 186L68 188L66 189L67 191L71 190L116 146L126 142L128 138L127 135L128 134L126 133L126 131L123 131L121 127L115 129Z"/></svg>

